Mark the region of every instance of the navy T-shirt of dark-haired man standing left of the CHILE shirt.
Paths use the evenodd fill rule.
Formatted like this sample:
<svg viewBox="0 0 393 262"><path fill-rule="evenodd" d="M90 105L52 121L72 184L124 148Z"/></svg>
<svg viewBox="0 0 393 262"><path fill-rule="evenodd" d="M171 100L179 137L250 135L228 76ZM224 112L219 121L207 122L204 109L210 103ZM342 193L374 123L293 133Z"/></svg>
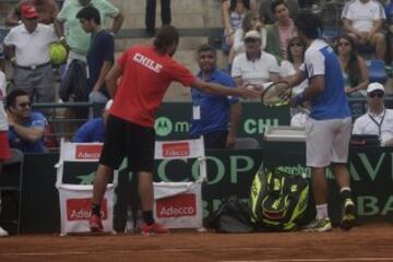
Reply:
<svg viewBox="0 0 393 262"><path fill-rule="evenodd" d="M87 53L88 64L88 88L92 90L97 82L99 72L105 61L114 62L115 58L115 41L114 36L108 31L102 29L97 34L92 35L92 46ZM99 91L109 97L105 84Z"/></svg>

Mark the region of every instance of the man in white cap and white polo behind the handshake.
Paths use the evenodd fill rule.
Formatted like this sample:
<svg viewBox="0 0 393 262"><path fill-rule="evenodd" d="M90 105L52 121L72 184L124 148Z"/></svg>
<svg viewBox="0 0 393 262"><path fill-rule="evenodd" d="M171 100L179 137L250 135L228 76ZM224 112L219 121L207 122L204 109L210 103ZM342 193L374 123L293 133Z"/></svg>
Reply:
<svg viewBox="0 0 393 262"><path fill-rule="evenodd" d="M234 60L231 76L238 86L246 83L264 84L279 80L279 67L273 55L261 50L262 38L258 31L245 36L246 52Z"/></svg>

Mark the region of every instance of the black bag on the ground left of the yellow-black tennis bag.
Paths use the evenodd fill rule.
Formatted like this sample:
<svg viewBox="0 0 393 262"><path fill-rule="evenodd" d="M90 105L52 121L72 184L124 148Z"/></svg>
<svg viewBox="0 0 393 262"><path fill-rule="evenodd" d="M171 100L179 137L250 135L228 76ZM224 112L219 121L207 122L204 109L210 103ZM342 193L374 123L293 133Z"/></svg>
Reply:
<svg viewBox="0 0 393 262"><path fill-rule="evenodd" d="M253 225L250 221L247 201L231 195L212 215L210 223L217 233L251 233Z"/></svg>

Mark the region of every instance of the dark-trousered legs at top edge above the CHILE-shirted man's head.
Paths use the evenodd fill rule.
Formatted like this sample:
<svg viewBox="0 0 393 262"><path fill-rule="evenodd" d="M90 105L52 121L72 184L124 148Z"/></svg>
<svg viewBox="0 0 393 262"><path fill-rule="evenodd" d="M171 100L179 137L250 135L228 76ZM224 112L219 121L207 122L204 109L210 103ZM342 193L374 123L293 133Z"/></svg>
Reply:
<svg viewBox="0 0 393 262"><path fill-rule="evenodd" d="M145 14L145 25L146 33L150 36L155 34L155 10L157 5L157 0L146 0L146 14ZM160 0L162 8L162 23L163 25L169 25L171 22L170 13L170 0Z"/></svg>

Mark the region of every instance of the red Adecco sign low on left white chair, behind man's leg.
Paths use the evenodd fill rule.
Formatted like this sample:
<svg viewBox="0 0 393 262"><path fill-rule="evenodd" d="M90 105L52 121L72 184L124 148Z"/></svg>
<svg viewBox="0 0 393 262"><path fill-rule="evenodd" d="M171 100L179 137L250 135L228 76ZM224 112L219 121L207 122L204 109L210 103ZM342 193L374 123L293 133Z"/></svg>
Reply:
<svg viewBox="0 0 393 262"><path fill-rule="evenodd" d="M108 217L107 201L104 199L100 203L102 219ZM68 221L87 221L92 213L92 199L68 199L66 202Z"/></svg>

